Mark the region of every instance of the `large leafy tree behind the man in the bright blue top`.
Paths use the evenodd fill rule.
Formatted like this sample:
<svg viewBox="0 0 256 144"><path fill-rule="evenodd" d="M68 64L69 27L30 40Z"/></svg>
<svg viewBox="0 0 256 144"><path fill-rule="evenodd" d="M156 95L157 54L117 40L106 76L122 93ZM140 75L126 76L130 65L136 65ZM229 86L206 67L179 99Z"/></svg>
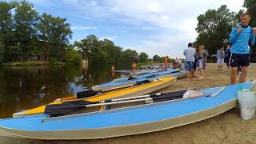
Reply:
<svg viewBox="0 0 256 144"><path fill-rule="evenodd" d="M243 6L250 13L250 26L256 26L256 1L245 0ZM230 32L234 26L240 23L240 15L244 10L238 12L230 11L226 5L222 5L218 10L207 10L204 14L198 16L198 25L196 31L198 37L194 42L194 46L204 45L209 51L209 54L216 54L218 45L222 44L223 39L230 38ZM255 45L252 48L253 53L251 58L255 62L256 50Z"/></svg>

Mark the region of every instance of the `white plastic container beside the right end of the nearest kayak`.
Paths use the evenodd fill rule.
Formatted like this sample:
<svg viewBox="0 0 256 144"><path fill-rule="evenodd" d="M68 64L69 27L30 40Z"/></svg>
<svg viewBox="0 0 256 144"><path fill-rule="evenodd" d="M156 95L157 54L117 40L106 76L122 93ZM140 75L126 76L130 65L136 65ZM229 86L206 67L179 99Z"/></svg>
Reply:
<svg viewBox="0 0 256 144"><path fill-rule="evenodd" d="M256 110L256 95L255 92L249 89L238 91L238 103L240 114L243 119L253 118Z"/></svg>

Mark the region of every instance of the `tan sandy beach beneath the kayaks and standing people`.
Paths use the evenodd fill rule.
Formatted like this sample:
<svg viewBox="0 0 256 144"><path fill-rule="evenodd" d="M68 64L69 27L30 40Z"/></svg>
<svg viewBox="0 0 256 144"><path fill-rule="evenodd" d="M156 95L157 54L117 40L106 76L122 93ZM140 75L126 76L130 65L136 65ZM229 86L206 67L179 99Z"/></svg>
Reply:
<svg viewBox="0 0 256 144"><path fill-rule="evenodd" d="M196 72L199 76L199 71ZM247 80L256 80L256 64L250 64ZM161 91L178 90L184 88L208 88L213 86L226 86L230 83L230 72L224 66L218 71L216 64L207 64L206 78L182 78ZM171 111L171 110L170 110ZM162 130L148 134L138 134L118 138L78 141L42 141L22 138L6 138L0 136L0 143L256 143L256 117L250 120L240 118L238 107L223 114L201 122L180 126L170 130Z"/></svg>

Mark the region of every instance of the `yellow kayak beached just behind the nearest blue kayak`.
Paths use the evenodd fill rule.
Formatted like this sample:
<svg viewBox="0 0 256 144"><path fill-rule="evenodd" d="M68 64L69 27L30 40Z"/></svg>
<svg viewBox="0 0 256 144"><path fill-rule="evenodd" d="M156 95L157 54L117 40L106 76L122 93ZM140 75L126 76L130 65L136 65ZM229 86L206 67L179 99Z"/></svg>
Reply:
<svg viewBox="0 0 256 144"><path fill-rule="evenodd" d="M78 99L75 96L67 97L67 98L59 98L57 101L51 102L50 104L61 104L62 102L69 102L69 101L75 101L75 100L97 102L97 101L116 98L116 97L130 97L130 96L136 96L136 95L142 95L142 94L149 94L156 90L161 90L166 86L169 86L172 82L175 82L175 81L176 81L175 77L159 78L158 80L154 80L153 82L149 82L143 85L132 86L122 90L115 90L105 94L96 95L90 98ZM17 113L14 113L13 117L23 117L31 114L42 114L44 113L45 108L46 108L46 105L39 106L37 108L30 109L30 110L22 110Z"/></svg>

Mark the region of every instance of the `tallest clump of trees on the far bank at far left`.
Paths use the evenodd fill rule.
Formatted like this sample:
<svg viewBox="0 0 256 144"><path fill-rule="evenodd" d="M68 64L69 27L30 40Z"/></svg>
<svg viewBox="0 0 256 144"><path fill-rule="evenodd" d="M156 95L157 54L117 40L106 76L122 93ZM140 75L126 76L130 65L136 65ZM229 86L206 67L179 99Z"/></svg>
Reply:
<svg viewBox="0 0 256 144"><path fill-rule="evenodd" d="M66 18L38 14L26 1L0 2L0 62L75 61L71 34Z"/></svg>

